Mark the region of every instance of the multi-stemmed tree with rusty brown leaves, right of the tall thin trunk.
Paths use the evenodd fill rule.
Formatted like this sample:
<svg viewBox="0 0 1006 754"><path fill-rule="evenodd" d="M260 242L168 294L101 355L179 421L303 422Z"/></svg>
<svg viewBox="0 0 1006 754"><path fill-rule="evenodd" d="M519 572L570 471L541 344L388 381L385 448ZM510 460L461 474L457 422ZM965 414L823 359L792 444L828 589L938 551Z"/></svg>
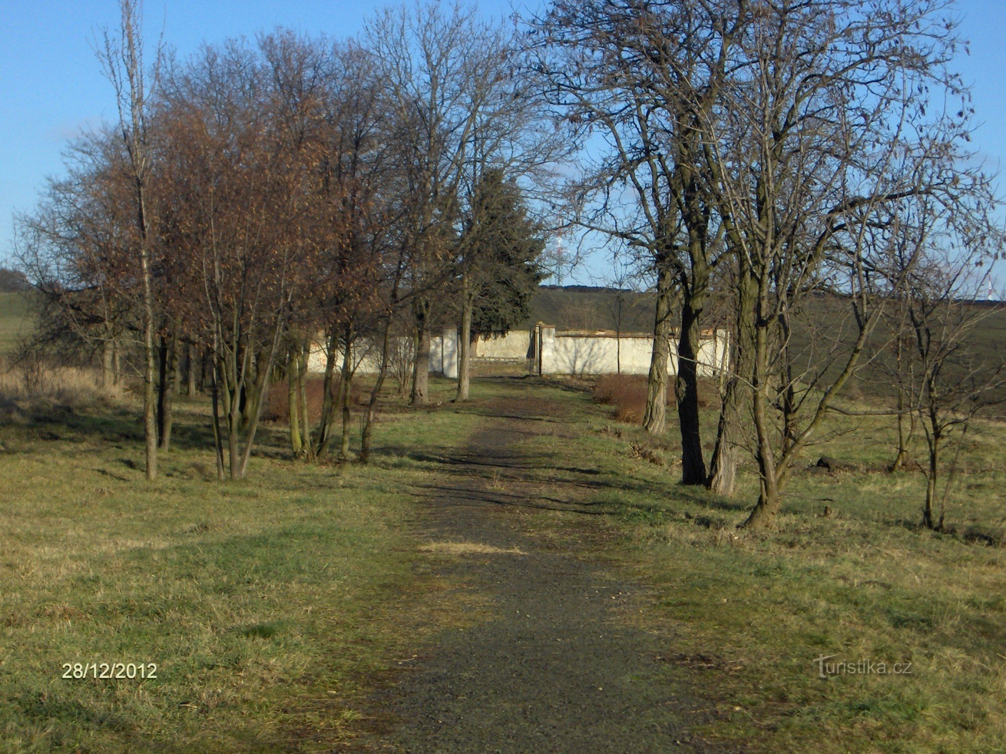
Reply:
<svg viewBox="0 0 1006 754"><path fill-rule="evenodd" d="M178 250L214 363L217 470L231 479L246 472L273 366L318 266L317 194L306 190L317 144L304 133L314 99L291 99L272 73L242 43L208 47L174 71L164 105Z"/></svg>

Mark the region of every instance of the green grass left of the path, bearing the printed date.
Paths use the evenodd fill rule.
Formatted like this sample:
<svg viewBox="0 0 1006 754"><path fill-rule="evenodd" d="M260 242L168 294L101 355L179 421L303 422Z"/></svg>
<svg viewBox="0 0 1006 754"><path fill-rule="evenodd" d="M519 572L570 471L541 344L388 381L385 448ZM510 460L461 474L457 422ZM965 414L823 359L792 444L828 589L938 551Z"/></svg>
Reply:
<svg viewBox="0 0 1006 754"><path fill-rule="evenodd" d="M435 386L442 389L441 386ZM366 674L460 621L412 532L410 485L473 414L385 414L369 467L283 458L217 483L205 406L143 480L132 405L0 427L0 750L275 751L329 746ZM457 601L457 600L456 600ZM471 619L471 616L464 619ZM63 680L63 663L155 663L156 680Z"/></svg>

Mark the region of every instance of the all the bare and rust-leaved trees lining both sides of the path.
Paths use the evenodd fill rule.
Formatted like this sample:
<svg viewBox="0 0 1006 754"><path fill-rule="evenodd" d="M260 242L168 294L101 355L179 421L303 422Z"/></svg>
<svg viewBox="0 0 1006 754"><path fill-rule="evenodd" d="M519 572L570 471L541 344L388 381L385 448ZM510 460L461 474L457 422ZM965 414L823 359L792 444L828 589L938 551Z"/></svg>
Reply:
<svg viewBox="0 0 1006 754"><path fill-rule="evenodd" d="M952 0L553 0L515 23L435 3L385 10L352 40L276 31L146 61L122 6L101 55L119 122L73 145L19 244L53 337L71 332L110 380L124 352L143 375L151 478L181 381L210 393L231 478L284 378L293 450L348 457L363 344L379 371L361 460L389 370L428 401L445 323L462 332L467 399L470 346L526 318L549 226L600 234L646 279L643 424L664 430L673 388L682 482L719 494L750 447L751 527L772 525L868 363L899 385L899 426L925 430L932 486L998 379L966 348L980 310L961 302L999 233ZM842 306L815 329L805 305L821 295ZM697 354L723 321L732 366L706 457Z"/></svg>

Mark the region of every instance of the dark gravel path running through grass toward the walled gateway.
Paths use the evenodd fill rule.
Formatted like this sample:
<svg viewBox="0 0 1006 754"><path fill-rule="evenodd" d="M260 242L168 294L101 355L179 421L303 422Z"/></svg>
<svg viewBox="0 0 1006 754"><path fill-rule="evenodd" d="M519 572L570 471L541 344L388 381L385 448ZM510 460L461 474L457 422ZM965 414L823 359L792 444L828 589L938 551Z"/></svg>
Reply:
<svg viewBox="0 0 1006 754"><path fill-rule="evenodd" d="M353 749L722 751L689 730L703 722L701 705L664 662L673 650L668 639L626 621L641 587L584 557L592 552L584 540L602 527L582 515L582 490L575 482L542 484L541 459L516 449L543 432L561 441L563 428L531 413L514 416L512 405L498 409L490 407L490 427L466 451L436 459L441 482L421 493L432 542L485 550L446 569L477 590L492 617L438 634L402 664L373 700L390 724ZM592 469L564 470L589 484ZM556 514L536 508L577 511L568 514L577 533L558 541L537 535L535 520Z"/></svg>

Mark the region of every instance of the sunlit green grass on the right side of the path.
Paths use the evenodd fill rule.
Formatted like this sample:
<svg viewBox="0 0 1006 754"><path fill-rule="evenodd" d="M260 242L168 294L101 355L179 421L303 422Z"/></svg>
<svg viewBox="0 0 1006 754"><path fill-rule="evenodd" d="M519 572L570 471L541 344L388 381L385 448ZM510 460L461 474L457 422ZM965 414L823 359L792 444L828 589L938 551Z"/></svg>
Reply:
<svg viewBox="0 0 1006 754"><path fill-rule="evenodd" d="M890 426L836 420L807 464L827 453L854 464L800 473L779 529L736 529L758 495L748 461L731 500L675 484L676 426L657 441L589 413L562 456L595 466L596 492L627 537L621 562L651 585L632 617L669 634L678 673L718 719L702 733L745 750L991 752L1006 750L1006 551L918 528L925 482L883 470ZM610 409L609 409L610 411ZM715 417L703 416L712 438ZM948 524L1001 531L1006 426L969 432ZM556 451L539 438L534 453ZM822 516L829 506L832 516ZM912 664L911 675L817 678L815 657Z"/></svg>

